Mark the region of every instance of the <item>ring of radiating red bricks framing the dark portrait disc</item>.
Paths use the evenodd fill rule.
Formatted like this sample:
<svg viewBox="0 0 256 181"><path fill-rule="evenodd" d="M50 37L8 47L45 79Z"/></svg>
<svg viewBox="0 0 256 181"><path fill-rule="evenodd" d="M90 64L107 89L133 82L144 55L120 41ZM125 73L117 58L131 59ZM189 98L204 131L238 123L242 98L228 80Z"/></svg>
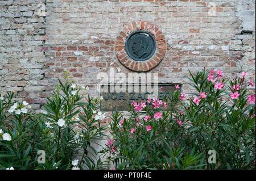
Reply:
<svg viewBox="0 0 256 181"><path fill-rule="evenodd" d="M137 30L150 32L156 40L155 54L146 61L140 62L133 60L128 56L125 50L125 41L127 37L130 35L130 33ZM117 55L118 60L127 69L133 71L143 72L154 69L163 60L164 55L166 54L166 49L166 38L164 37L163 32L160 30L159 27L155 26L155 24L146 21L126 24L123 28L123 31L121 31L117 36L117 40L115 40L115 54Z"/></svg>

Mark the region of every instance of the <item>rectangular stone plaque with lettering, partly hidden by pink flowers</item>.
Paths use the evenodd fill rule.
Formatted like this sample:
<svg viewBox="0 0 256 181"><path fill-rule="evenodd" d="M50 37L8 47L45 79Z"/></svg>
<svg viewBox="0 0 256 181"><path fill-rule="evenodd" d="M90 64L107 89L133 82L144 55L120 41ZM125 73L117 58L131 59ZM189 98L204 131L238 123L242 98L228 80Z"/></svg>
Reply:
<svg viewBox="0 0 256 181"><path fill-rule="evenodd" d="M176 85L176 84L175 84ZM158 99L162 100L164 96L170 97L170 92L175 89L174 84L158 84ZM110 87L110 85L105 85ZM134 85L130 85L133 86ZM161 89L162 87L162 89ZM101 86L102 89L102 86ZM110 90L110 89L108 89ZM126 85L126 90L127 85ZM180 89L181 91L181 85ZM100 96L103 97L100 103L101 111L129 111L129 104L131 102L142 102L148 99L148 95L152 92L141 92L141 86L139 85L139 92L101 92Z"/></svg>

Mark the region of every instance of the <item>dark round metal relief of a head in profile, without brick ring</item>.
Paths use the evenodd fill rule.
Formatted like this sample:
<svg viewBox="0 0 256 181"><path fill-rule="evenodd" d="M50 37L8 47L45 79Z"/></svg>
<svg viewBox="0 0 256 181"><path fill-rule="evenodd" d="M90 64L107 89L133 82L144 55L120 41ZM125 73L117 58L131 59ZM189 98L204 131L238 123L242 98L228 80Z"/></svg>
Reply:
<svg viewBox="0 0 256 181"><path fill-rule="evenodd" d="M148 60L156 50L155 38L147 31L135 31L127 37L125 50L133 60Z"/></svg>

